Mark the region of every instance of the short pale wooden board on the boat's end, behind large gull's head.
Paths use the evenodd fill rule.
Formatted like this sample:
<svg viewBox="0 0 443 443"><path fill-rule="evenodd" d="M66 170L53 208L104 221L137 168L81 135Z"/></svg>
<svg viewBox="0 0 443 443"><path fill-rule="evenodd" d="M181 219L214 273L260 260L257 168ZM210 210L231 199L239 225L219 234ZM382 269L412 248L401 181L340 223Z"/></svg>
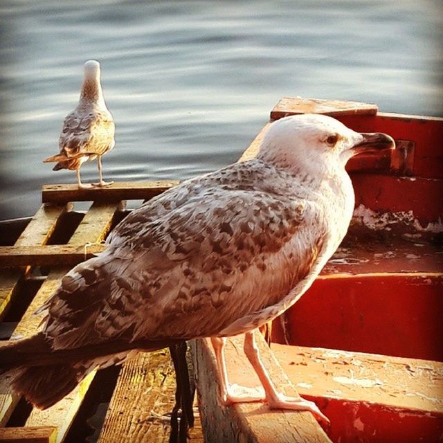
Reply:
<svg viewBox="0 0 443 443"><path fill-rule="evenodd" d="M317 98L283 97L271 111L271 120L294 114L326 114L327 116L374 116L378 107L373 103Z"/></svg>

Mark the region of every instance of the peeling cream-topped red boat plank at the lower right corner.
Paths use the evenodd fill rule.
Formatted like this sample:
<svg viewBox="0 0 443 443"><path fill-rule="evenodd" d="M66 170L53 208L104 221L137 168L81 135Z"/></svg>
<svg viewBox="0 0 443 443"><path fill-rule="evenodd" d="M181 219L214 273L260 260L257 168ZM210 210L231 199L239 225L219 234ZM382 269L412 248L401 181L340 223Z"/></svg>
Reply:
<svg viewBox="0 0 443 443"><path fill-rule="evenodd" d="M274 343L271 347L300 395L321 405L331 420L334 442L344 436L346 441L368 443L439 441L443 363Z"/></svg>

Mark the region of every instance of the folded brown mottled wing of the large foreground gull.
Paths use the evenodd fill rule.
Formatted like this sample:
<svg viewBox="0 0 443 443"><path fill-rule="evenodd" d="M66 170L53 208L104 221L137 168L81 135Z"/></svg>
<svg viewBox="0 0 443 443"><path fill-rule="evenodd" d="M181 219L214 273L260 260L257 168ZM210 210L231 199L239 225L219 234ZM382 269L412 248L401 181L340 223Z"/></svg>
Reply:
<svg viewBox="0 0 443 443"><path fill-rule="evenodd" d="M323 238L307 222L313 211L265 192L206 190L76 266L45 332L55 348L215 335L306 275ZM297 235L305 241L293 248Z"/></svg>

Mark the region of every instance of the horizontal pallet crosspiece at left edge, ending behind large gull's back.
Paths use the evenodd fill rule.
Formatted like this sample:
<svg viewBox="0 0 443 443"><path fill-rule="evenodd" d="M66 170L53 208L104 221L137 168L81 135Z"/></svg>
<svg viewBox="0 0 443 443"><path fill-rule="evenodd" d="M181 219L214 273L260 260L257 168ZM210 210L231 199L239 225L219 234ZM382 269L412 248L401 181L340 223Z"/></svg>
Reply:
<svg viewBox="0 0 443 443"><path fill-rule="evenodd" d="M0 246L0 268L33 265L73 266L104 251L105 244L84 246L51 244L45 246Z"/></svg>

